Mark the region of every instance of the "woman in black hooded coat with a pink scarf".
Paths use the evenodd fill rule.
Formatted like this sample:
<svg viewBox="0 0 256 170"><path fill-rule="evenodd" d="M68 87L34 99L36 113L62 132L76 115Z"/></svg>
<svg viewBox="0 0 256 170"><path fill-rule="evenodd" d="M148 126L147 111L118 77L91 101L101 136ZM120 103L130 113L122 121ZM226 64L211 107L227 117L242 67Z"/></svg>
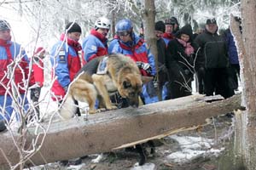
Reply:
<svg viewBox="0 0 256 170"><path fill-rule="evenodd" d="M171 99L191 95L194 77L195 44L190 25L177 31L176 38L167 46L167 68L171 79Z"/></svg>

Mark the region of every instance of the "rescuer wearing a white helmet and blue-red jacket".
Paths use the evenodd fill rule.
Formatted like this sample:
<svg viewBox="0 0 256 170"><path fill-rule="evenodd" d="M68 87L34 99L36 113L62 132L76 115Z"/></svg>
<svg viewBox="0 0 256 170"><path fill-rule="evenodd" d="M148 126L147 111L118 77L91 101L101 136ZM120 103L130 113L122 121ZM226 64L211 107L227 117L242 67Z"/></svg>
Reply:
<svg viewBox="0 0 256 170"><path fill-rule="evenodd" d="M90 35L83 40L83 65L99 56L108 54L108 31L110 20L100 17L96 20L94 28L90 30Z"/></svg>

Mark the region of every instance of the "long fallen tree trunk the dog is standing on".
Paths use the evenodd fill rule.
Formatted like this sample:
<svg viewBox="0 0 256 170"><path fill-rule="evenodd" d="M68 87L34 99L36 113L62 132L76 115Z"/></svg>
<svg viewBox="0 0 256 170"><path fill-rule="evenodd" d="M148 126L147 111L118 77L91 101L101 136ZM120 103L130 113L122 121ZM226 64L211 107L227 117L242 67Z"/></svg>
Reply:
<svg viewBox="0 0 256 170"><path fill-rule="evenodd" d="M193 95L136 109L106 111L90 115L88 120L81 116L65 122L52 122L41 149L26 165L41 165L119 149L124 144L135 144L136 141L143 142L143 139L163 137L183 127L205 124L207 117L241 108L241 95L211 103L204 99L202 95ZM36 137L35 129L29 130L31 133L26 138L27 147ZM9 164L19 162L20 157L9 133L0 135L0 149L6 154L6 157L0 154L0 169L6 169ZM18 138L15 136L15 139ZM38 138L40 140L41 137Z"/></svg>

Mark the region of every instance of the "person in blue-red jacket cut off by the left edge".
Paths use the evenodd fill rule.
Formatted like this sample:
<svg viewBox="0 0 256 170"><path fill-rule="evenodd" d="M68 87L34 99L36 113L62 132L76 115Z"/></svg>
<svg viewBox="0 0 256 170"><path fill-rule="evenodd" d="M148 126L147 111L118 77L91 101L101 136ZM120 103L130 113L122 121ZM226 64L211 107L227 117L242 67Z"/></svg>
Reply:
<svg viewBox="0 0 256 170"><path fill-rule="evenodd" d="M11 27L6 20L0 20L0 132L6 129L5 123L10 121L14 107L13 99L17 105L26 112L28 105L25 96L27 85L34 81L29 75L29 59L20 44L11 41ZM14 81L15 83L13 83ZM27 81L27 82L26 82ZM28 83L28 84L27 84ZM23 111L22 111L23 112ZM18 121L22 119L15 113Z"/></svg>

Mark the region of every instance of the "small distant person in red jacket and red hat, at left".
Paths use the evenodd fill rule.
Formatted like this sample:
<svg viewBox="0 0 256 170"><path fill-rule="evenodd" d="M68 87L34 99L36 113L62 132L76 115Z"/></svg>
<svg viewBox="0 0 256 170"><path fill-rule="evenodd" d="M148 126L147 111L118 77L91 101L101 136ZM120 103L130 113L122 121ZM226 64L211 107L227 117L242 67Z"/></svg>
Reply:
<svg viewBox="0 0 256 170"><path fill-rule="evenodd" d="M40 113L38 99L40 97L41 88L44 86L44 60L43 59L44 59L45 53L46 51L43 47L38 47L32 57L33 59L32 71L33 71L36 87L31 89L30 95L31 95L32 102L35 105L38 118Z"/></svg>

